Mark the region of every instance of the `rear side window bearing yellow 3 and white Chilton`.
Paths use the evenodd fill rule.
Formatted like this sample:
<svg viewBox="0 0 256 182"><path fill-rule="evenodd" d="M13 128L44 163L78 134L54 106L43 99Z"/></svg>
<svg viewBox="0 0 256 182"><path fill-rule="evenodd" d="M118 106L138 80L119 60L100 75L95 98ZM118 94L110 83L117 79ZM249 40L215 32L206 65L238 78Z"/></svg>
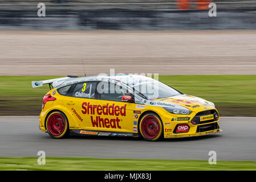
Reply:
<svg viewBox="0 0 256 182"><path fill-rule="evenodd" d="M82 82L76 84L72 97L95 98L96 82Z"/></svg>

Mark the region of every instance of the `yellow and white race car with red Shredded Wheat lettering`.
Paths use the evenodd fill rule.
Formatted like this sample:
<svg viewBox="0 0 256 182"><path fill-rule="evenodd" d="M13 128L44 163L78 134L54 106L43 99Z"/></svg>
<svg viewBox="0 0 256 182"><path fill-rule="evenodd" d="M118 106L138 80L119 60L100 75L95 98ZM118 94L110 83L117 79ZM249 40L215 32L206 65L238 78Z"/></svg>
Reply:
<svg viewBox="0 0 256 182"><path fill-rule="evenodd" d="M48 84L39 127L53 138L72 135L162 138L221 132L212 102L141 75L67 76Z"/></svg>

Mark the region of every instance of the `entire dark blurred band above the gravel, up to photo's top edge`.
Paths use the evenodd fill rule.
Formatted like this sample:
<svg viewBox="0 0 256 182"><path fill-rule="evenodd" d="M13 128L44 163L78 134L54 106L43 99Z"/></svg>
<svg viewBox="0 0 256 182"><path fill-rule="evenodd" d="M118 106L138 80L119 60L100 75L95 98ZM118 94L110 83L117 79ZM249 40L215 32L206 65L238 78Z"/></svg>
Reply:
<svg viewBox="0 0 256 182"><path fill-rule="evenodd" d="M208 16L216 3L218 18ZM45 3L46 17L36 17ZM38 30L202 30L255 28L256 1L48 0L0 1L0 28ZM207 11L205 11L207 10Z"/></svg>

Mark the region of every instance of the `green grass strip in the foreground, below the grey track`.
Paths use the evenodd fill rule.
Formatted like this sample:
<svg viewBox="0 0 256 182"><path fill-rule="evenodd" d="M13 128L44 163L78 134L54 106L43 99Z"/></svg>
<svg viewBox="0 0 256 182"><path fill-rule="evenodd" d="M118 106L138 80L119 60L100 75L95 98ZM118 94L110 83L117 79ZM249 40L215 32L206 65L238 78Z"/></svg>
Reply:
<svg viewBox="0 0 256 182"><path fill-rule="evenodd" d="M92 159L46 158L45 165L38 165L38 158L0 158L0 170L256 170L256 162L217 161L216 165L205 160L157 160L157 159Z"/></svg>

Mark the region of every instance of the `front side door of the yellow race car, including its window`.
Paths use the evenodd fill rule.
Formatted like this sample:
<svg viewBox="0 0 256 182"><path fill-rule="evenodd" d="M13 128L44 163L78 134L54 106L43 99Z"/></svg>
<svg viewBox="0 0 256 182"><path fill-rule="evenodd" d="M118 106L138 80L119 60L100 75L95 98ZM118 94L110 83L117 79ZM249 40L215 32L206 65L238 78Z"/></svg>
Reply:
<svg viewBox="0 0 256 182"><path fill-rule="evenodd" d="M101 85L100 85L101 84ZM97 86L97 110L92 121L99 131L133 133L133 110L135 104L122 101L125 95L132 96L127 90L112 82L101 81ZM132 96L134 98L134 96Z"/></svg>

